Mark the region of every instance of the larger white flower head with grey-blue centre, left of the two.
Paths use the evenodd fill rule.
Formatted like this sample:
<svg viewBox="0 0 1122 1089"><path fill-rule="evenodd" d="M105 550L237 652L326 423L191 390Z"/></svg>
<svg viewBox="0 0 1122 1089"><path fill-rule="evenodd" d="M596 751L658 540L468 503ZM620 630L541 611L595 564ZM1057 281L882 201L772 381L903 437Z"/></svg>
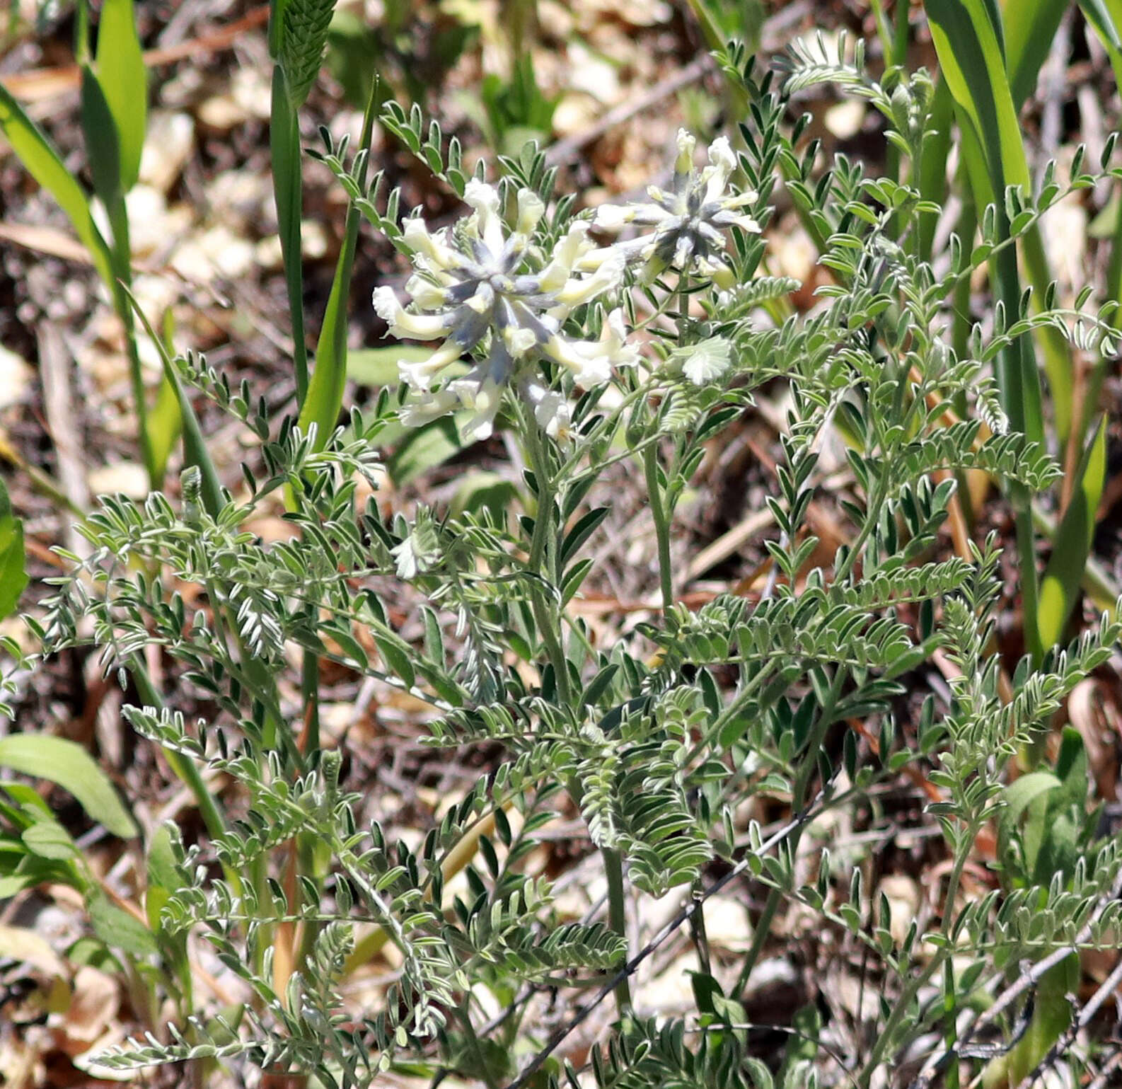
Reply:
<svg viewBox="0 0 1122 1089"><path fill-rule="evenodd" d="M411 310L392 287L374 293L374 306L393 336L444 341L425 359L398 364L402 379L417 394L403 419L419 424L465 408L473 413L466 436L482 439L491 433L503 391L511 387L527 400L541 427L562 434L569 427L568 405L537 381L535 365L552 359L578 385L590 386L606 382L613 366L635 362L636 353L624 344L619 311L605 321L597 341L561 331L576 306L619 285L626 255L615 247L597 249L588 238L589 221L580 220L540 271L525 272L544 212L537 195L518 191L509 234L493 186L472 180L463 200L472 213L452 230L430 231L416 218L403 225L415 269L405 285ZM449 379L448 368L478 346L486 348L485 357L462 377Z"/></svg>

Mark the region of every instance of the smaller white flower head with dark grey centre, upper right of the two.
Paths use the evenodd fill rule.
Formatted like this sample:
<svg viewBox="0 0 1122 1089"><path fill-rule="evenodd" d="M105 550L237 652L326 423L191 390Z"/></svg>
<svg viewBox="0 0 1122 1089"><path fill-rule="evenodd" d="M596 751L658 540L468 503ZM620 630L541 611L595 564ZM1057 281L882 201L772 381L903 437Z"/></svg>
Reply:
<svg viewBox="0 0 1122 1089"><path fill-rule="evenodd" d="M700 171L693 165L696 144L691 134L679 129L670 191L651 185L645 202L601 204L594 223L606 231L622 230L628 223L654 227L652 234L617 246L629 259L642 262L645 280L673 267L681 274L707 276L727 289L735 276L725 259L723 231L736 226L760 232L760 225L743 210L756 194L729 192L736 156L724 136L709 145L709 162Z"/></svg>

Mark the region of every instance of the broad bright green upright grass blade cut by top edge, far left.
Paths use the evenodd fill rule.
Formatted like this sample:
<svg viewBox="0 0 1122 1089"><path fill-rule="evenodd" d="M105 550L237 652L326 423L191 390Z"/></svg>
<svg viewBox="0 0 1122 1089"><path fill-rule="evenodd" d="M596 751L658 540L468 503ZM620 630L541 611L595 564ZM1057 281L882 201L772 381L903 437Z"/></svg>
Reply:
<svg viewBox="0 0 1122 1089"><path fill-rule="evenodd" d="M117 127L122 192L136 185L148 127L148 72L132 0L104 0L98 24L98 82Z"/></svg>

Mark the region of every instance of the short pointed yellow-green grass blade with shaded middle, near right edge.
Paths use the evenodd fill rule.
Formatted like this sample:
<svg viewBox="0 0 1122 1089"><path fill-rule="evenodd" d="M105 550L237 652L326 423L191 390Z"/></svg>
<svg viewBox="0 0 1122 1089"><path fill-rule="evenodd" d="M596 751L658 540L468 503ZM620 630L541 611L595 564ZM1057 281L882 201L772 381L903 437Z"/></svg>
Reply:
<svg viewBox="0 0 1122 1089"><path fill-rule="evenodd" d="M1072 500L1052 541L1052 553L1040 583L1037 613L1042 647L1064 638L1064 628L1079 594L1087 557L1095 536L1095 512L1106 478L1106 428L1100 420L1083 451Z"/></svg>

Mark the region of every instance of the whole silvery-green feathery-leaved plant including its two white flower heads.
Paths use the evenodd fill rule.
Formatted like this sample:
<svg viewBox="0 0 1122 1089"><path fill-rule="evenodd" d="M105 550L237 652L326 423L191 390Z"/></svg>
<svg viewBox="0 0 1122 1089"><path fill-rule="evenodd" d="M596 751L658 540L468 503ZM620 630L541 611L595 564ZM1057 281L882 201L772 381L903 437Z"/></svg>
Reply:
<svg viewBox="0 0 1122 1089"><path fill-rule="evenodd" d="M913 768L938 800L911 805L927 805L919 823L940 831L960 876L1002 805L1011 754L1039 736L1116 641L1119 625L1104 621L1064 655L1026 664L1003 706L987 651L996 547L988 540L969 560L931 558L954 494L950 477L932 483L932 474L981 468L1028 488L1057 475L1046 451L1008 431L986 363L1036 322L1100 336L1105 322L1056 310L999 315L959 357L945 331L948 300L996 239L984 237L973 255L953 241L937 273L908 245L930 211L918 194L844 158L812 183L816 148L799 150L802 122L793 132L781 123L787 91L743 62L735 51L723 58L752 103L737 134L744 150L718 139L696 166L691 138L681 137L670 190L591 221L554 200L554 177L531 149L502 159L494 186L459 173L458 153L436 162L468 216L442 231L416 217L398 225L386 209L399 195L384 192L385 179L360 186L346 148L329 145L324 162L413 262L411 309L380 291L379 312L393 332L441 345L403 368L397 396L384 391L371 411L355 412L322 451L283 421L243 494L226 493L219 509L208 509L188 470L182 503L107 496L83 527L92 555L59 580L38 626L45 647L89 642L89 623L107 671L162 655L165 703L141 693L130 723L165 752L228 777L248 800L197 844L169 829L163 872L174 887L158 921L160 957L147 957L145 971L178 1003L182 1023L171 1038L119 1049L107 1063L221 1061L341 1087L370 1085L406 1062L490 1085L540 1077L576 1086L583 1077L605 1089L867 1085L877 1071L899 1081L939 1059L930 1029L955 998L940 988L951 986L944 981L959 953L973 960L968 989L992 995L1006 966L1080 935L1094 944L1119 925L1116 903L1103 899L1119 871L1110 838L1082 840L1077 864L1043 886L1006 882L966 903L945 890L903 935L864 889L859 849L807 851L874 794L910 790L901 769ZM916 80L882 97L909 125L921 118L920 139L927 91ZM430 163L439 156L439 129L419 111L392 104L386 123ZM914 152L916 131L895 135ZM781 166L834 273L806 314L783 304L797 285L764 274L761 229ZM734 174L743 182L726 190ZM1020 199L1037 217L1057 193ZM597 223L620 237L595 242ZM178 365L185 381L250 420L248 391L232 396L199 358ZM606 474L653 452L649 481L672 513L707 445L720 445L754 391L778 383L789 396L764 592L652 607L601 646L567 606L594 567ZM956 401L972 414L947 427ZM468 437L502 427L527 451L521 518L424 505L411 519L384 512L386 429L450 409L466 410ZM259 427L260 413L252 420ZM852 484L846 541L824 560L815 506L831 424L845 429ZM365 502L364 479L375 489ZM301 532L266 544L247 527L280 494ZM426 706L417 729L441 759L486 745L489 770L449 799L420 842L360 818L362 799L340 781L339 756L297 744L293 723L311 712L278 685L293 648ZM918 720L898 719L902 697L928 686L936 651L960 671L949 698L932 687ZM769 836L756 817L776 800L793 817ZM620 934L598 905L576 918L555 900L535 860L548 826L577 812L603 857L624 860L626 915L671 894L683 904L677 918L693 919L702 968L698 1008L684 1019L652 1019L660 1010L647 989L652 954L683 930L652 937L629 923ZM476 842L450 887L451 861ZM292 844L306 852L295 900L283 887ZM790 1049L778 1072L763 1067L738 987L755 977L766 919L754 934L746 916L751 948L718 957L698 919L725 887L771 904L772 915L801 905L812 928L865 959L884 1001L834 1007L825 1026L812 1001L800 1015L806 1046ZM1093 926L1073 926L1088 918ZM277 989L282 922L298 925L304 944ZM379 1006L357 1007L347 995L371 926L394 948L397 974ZM191 1003L172 988L168 964L188 936L217 952L230 986L243 987L240 1019L215 1017L206 997ZM635 1016L605 1029L590 1071L549 1058L541 996L567 1000L551 1015L563 1043L582 1010L610 1021L625 978ZM487 992L508 1016L488 1015Z"/></svg>

